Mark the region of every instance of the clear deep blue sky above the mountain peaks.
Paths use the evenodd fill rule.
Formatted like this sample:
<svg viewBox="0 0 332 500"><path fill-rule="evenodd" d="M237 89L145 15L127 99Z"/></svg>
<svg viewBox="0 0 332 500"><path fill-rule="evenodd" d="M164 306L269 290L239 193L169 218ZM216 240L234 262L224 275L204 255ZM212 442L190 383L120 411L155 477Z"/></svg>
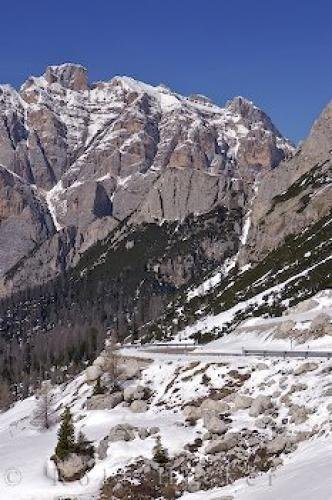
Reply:
<svg viewBox="0 0 332 500"><path fill-rule="evenodd" d="M91 80L243 95L297 142L331 99L331 19L331 0L2 0L0 81L70 61Z"/></svg>

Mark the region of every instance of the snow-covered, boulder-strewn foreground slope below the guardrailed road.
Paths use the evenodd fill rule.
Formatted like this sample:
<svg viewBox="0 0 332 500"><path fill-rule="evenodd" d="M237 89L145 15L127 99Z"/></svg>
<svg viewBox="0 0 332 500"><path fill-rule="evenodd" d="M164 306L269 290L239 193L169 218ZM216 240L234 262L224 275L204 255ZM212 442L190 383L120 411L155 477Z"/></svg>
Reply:
<svg viewBox="0 0 332 500"><path fill-rule="evenodd" d="M323 300L320 305L322 304ZM54 390L57 414L69 405L74 414L76 430L83 430L87 437L94 441L96 448L117 424L137 429L158 427L157 432L172 460L173 457L182 456L186 445L193 443L195 439L201 439L196 451L189 453L186 447L186 460L194 461L196 465L189 467L185 480L188 485L198 481L203 488L204 481L198 479L199 464L210 460L208 446L219 437L207 434L205 417L198 418L195 424L188 425L186 415L189 413L185 413L184 408L196 405L197 409L207 398L219 401L218 398L221 398L223 404L229 408L227 433L241 434L243 429L248 429L250 433L256 433L259 442L265 445L281 435L287 443L293 443L290 448L292 450L298 442L302 444L291 454L281 454L284 465L273 471L272 485L269 488L269 474L257 475L256 472L254 477L248 480L250 486L248 481L239 481L225 491L212 489L210 492L207 483L204 491L195 495L184 494L184 498L197 500L204 496L213 499L218 498L218 494L227 493L234 495L234 500L311 500L309 491L315 491L318 497L328 500L329 497L324 495L329 487L329 478L325 477L325 474L332 460L331 361L318 359L314 363L308 363L300 359L256 360L246 357L220 357L217 353L215 357L211 356L207 360L204 356L200 358L199 352L191 357L186 353L163 354L128 350L125 356L129 356L125 358L129 367L136 362L137 356L141 356L143 360L141 375L137 374L132 380L124 382L125 387L136 387L140 384L149 388L151 396L148 409L143 413L134 413L124 403L109 410L88 410L86 403L91 396L93 383L86 382L85 373ZM147 358L150 358L148 363ZM100 359L95 366L101 366ZM262 412L261 415L251 413L250 403L247 409L238 409L235 402L237 395L245 396L252 402L258 396L264 395L270 398L272 409ZM81 481L61 483L56 479L54 466L49 461L56 444L58 426L48 431L40 431L33 426L31 417L34 406L35 399L31 397L0 414L0 467L3 478L0 481L1 498L49 500L51 497L77 496L85 500L99 499L99 490L105 478L119 473L119 470L126 474L124 471L128 465L136 463L139 457L145 457L146 460L152 457L155 436L142 435L140 438L135 434L135 438L129 441L120 439L110 442L106 455L96 455L96 465ZM302 410L299 410L301 408ZM213 465L208 463L206 467L211 471ZM291 481L300 481L310 467L315 469L317 482L311 484L311 489L306 490L307 496L296 496L298 490ZM232 479L229 481L233 482ZM219 485L224 484L220 478ZM294 496L287 496L287 493Z"/></svg>

